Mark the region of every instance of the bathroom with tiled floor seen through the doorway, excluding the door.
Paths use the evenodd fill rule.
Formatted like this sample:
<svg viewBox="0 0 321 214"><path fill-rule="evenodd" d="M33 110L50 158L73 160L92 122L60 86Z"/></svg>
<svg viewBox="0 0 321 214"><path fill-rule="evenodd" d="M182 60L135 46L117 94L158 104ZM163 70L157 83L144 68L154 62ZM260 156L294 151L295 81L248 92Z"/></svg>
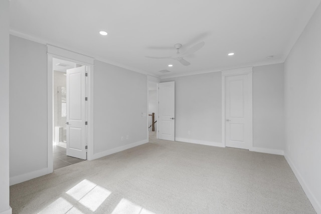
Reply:
<svg viewBox="0 0 321 214"><path fill-rule="evenodd" d="M67 82L67 75L72 69L79 67L83 67L83 65L53 58L53 170L86 159L86 157L77 158L77 155L72 155L70 152L68 154L70 131L67 120L70 117L70 113L68 113L70 84Z"/></svg>

